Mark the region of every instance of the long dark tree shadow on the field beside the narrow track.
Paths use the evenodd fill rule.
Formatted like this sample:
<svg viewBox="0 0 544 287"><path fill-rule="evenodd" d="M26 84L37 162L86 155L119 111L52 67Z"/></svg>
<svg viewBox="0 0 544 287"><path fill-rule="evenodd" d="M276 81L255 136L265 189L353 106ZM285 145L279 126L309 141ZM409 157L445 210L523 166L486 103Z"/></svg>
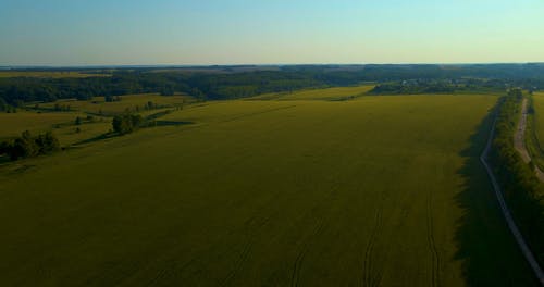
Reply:
<svg viewBox="0 0 544 287"><path fill-rule="evenodd" d="M455 261L462 264L467 286L537 286L524 258L510 234L485 169L480 162L495 108L470 137L461 151L466 159L458 171L465 179L456 202L463 215L457 222Z"/></svg>

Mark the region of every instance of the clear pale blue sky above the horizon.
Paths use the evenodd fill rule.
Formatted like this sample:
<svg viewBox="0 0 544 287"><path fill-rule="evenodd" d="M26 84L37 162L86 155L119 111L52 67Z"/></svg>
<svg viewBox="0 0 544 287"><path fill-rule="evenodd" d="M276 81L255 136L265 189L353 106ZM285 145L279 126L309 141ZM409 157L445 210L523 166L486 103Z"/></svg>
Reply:
<svg viewBox="0 0 544 287"><path fill-rule="evenodd" d="M0 65L544 62L544 0L0 0Z"/></svg>

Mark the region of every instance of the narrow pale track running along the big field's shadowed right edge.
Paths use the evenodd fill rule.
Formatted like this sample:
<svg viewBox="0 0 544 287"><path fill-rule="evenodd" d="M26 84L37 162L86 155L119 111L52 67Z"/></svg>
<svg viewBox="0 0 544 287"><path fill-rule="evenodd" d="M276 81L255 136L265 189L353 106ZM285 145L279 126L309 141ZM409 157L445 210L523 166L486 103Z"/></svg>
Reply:
<svg viewBox="0 0 544 287"><path fill-rule="evenodd" d="M526 102L523 102L523 107L526 107ZM527 108L527 107L526 107ZM523 109L524 111L524 109ZM526 111L524 111L526 112ZM523 114L524 114L523 112ZM531 249L529 249L529 246L526 244L526 240L523 239L523 236L518 229L518 226L514 222L514 219L510 214L510 210L508 209L508 205L506 205L506 201L503 197L503 191L500 190L500 186L497 183L497 179L495 178L495 175L493 174L493 171L491 170L490 164L487 163L487 155L490 153L491 145L493 142L493 138L495 135L495 124L496 124L496 115L495 120L493 122L493 125L491 127L490 132L490 137L487 138L487 144L485 146L484 151L482 152L482 155L480 155L480 161L484 165L485 170L487 171L487 175L490 176L491 184L493 185L493 189L495 190L495 195L497 197L498 203L500 205L500 211L503 212L506 223L508 224L508 227L510 228L510 232L512 233L514 237L516 238L516 241L518 242L521 252L526 257L527 261L531 265L531 269L533 270L534 274L536 275L536 278L541 283L542 286L544 286L544 272L542 271L541 266L534 259L533 253L531 252ZM518 130L519 133L519 130ZM516 135L517 137L517 135Z"/></svg>

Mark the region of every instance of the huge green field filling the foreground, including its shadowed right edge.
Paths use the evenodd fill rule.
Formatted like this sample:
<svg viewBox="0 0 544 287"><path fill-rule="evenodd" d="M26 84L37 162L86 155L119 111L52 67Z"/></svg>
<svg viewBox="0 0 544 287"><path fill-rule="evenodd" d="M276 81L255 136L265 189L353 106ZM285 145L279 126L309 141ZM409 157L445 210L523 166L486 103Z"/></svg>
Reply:
<svg viewBox="0 0 544 287"><path fill-rule="evenodd" d="M535 285L478 161L496 99L208 102L0 165L0 282Z"/></svg>

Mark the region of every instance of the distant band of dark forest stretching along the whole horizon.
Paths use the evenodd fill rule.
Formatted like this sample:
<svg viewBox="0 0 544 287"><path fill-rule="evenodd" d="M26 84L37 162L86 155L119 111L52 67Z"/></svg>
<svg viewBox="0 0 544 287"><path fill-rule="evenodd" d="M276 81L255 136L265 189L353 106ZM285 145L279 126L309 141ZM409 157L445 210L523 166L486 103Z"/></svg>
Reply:
<svg viewBox="0 0 544 287"><path fill-rule="evenodd" d="M116 96L147 92L163 96L184 92L201 100L224 100L304 88L349 86L361 82L388 83L410 79L485 78L485 82L475 84L496 86L508 83L528 89L544 89L543 64L294 65L273 68L218 66L168 71L120 68L110 73L110 76L85 78L0 78L0 109L5 110L7 107L18 107L32 101L51 102L67 98L88 100L96 96L116 100ZM438 83L426 87L426 90L420 89L419 92L446 92L449 88ZM381 86L381 89L400 90L399 87L388 86Z"/></svg>

